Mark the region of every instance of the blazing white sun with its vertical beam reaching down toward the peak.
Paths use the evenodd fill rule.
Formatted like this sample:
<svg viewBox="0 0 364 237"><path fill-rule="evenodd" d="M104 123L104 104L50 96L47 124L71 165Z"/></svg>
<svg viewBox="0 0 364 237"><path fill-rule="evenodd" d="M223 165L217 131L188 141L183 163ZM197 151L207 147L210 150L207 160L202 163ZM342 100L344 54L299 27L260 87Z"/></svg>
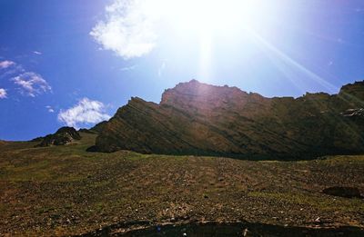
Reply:
<svg viewBox="0 0 364 237"><path fill-rule="evenodd" d="M226 44L217 42L217 37L231 39L250 34L259 25L265 25L270 10L260 0L159 0L157 5L150 2L154 5L148 7L155 7L155 13L161 11L161 20L173 35L197 38L198 76L204 79L210 76L214 45Z"/></svg>

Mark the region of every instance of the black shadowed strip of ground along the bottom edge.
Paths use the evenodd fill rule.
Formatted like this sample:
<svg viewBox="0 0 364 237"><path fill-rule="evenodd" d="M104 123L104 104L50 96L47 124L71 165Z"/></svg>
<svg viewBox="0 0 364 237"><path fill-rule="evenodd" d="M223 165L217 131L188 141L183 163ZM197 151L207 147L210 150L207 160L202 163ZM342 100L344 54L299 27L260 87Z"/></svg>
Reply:
<svg viewBox="0 0 364 237"><path fill-rule="evenodd" d="M362 236L364 230L359 227L333 227L333 228L308 228L296 226L280 226L264 223L249 222L189 222L184 224L165 224L162 226L138 226L136 230L120 232L122 228L131 226L132 223L118 223L94 232L74 235L78 236L229 236L229 237L256 237L256 236ZM149 226L148 226L149 225Z"/></svg>

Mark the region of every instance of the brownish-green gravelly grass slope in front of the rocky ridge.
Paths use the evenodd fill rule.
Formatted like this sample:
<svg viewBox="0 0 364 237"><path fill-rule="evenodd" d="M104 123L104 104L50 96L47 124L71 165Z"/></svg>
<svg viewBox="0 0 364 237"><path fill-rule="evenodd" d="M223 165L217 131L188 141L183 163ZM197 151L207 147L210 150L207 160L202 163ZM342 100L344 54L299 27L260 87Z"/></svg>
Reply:
<svg viewBox="0 0 364 237"><path fill-rule="evenodd" d="M364 201L321 193L331 185L364 191L364 156L309 162L86 153L75 144L0 144L0 235L81 233L149 220L364 226ZM315 220L319 217L319 222Z"/></svg>

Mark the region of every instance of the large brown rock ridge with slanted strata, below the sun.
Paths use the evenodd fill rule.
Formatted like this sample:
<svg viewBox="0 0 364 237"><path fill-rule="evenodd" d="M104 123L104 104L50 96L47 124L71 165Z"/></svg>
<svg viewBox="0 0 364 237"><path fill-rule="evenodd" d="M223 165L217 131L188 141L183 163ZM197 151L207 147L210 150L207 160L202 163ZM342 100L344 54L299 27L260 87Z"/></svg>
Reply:
<svg viewBox="0 0 364 237"><path fill-rule="evenodd" d="M362 82L294 99L192 80L166 90L160 104L132 98L105 124L96 150L243 158L364 153L363 99Z"/></svg>

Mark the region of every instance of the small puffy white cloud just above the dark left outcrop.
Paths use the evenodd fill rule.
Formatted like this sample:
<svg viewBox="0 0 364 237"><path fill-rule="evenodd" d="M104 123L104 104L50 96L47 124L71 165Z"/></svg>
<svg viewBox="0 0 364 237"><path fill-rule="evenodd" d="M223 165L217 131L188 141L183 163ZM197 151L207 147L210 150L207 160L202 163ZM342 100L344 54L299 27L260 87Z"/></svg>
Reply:
<svg viewBox="0 0 364 237"><path fill-rule="evenodd" d="M105 113L105 105L98 101L83 98L75 106L58 114L58 120L67 126L78 128L82 124L99 123L110 119Z"/></svg>

